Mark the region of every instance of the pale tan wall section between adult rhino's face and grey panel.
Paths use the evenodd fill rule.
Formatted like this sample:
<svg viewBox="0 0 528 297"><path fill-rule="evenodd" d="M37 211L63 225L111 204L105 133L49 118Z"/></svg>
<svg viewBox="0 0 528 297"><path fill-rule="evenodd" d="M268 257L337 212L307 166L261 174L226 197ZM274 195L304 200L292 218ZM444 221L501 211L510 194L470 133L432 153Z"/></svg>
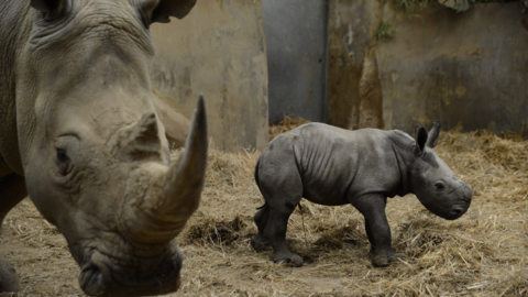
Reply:
<svg viewBox="0 0 528 297"><path fill-rule="evenodd" d="M267 67L260 0L198 0L183 20L151 28L153 85L190 119L204 92L209 133L226 151L264 148Z"/></svg>

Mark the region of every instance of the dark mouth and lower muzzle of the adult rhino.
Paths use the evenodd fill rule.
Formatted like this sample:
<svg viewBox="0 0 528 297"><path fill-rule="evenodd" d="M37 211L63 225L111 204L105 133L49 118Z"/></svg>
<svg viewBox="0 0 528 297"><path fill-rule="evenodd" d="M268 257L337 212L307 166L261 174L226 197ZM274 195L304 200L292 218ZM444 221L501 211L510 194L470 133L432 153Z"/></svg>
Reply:
<svg viewBox="0 0 528 297"><path fill-rule="evenodd" d="M152 296L178 289L182 252L155 257L128 256L125 260L94 251L82 265L79 285L89 296Z"/></svg>

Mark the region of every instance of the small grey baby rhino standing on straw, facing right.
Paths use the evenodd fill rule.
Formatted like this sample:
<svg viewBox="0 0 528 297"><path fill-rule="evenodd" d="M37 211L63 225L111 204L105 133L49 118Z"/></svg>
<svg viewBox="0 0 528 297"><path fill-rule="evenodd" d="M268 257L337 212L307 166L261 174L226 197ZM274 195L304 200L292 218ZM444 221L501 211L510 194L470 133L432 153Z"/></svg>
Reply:
<svg viewBox="0 0 528 297"><path fill-rule="evenodd" d="M288 218L301 198L324 206L353 205L365 218L371 260L386 266L396 257L385 215L387 197L415 194L435 215L460 218L470 207L473 191L431 150L440 123L429 134L415 129L416 140L398 131L349 131L308 123L274 139L262 152L255 182L265 205L254 219L258 234L255 250L273 248L270 260L302 265L286 244Z"/></svg>

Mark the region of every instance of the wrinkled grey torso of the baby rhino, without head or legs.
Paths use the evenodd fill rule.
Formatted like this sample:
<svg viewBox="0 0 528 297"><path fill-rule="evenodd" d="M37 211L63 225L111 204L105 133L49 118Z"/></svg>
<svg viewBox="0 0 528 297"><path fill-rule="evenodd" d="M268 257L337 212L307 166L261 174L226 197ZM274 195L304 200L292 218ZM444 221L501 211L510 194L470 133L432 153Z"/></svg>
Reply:
<svg viewBox="0 0 528 297"><path fill-rule="evenodd" d="M293 207L300 197L337 206L365 193L388 194L399 173L386 133L322 123L301 125L280 134L263 151L255 168L257 184L261 190L287 190Z"/></svg>

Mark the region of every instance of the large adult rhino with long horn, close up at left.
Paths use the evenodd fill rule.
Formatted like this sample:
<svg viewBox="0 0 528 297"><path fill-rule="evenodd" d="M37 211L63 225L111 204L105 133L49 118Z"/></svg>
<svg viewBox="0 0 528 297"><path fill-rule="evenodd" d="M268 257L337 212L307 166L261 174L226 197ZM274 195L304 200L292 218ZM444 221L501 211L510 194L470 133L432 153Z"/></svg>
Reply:
<svg viewBox="0 0 528 297"><path fill-rule="evenodd" d="M194 4L0 1L0 219L29 194L66 238L88 295L179 286L173 239L200 201L206 110L200 98L186 153L170 166L148 26Z"/></svg>

